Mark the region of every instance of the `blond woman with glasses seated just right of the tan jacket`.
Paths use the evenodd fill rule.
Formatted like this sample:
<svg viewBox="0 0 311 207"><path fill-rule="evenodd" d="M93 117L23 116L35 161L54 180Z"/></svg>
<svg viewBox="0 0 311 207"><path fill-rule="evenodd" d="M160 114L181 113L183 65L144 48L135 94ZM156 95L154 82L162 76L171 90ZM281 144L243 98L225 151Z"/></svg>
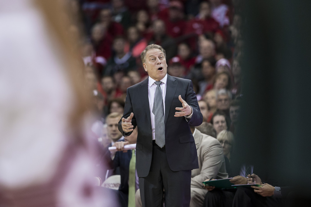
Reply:
<svg viewBox="0 0 311 207"><path fill-rule="evenodd" d="M231 133L228 130L222 130L217 135L217 140L220 142L222 149L224 150L226 171L228 173L229 178L231 178L233 175L231 174L231 168L230 168L230 155L231 155L231 150L233 149L233 143L234 143L233 133Z"/></svg>

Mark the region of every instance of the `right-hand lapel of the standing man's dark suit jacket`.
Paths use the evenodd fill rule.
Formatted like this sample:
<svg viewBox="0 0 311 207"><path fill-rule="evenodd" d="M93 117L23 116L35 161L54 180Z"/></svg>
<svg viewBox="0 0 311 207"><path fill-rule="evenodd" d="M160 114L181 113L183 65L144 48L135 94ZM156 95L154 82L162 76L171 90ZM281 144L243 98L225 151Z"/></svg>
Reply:
<svg viewBox="0 0 311 207"><path fill-rule="evenodd" d="M168 74L166 84L167 85L166 85L166 94L165 94L165 124L169 116L169 109L172 104L178 82L173 76L170 76Z"/></svg>

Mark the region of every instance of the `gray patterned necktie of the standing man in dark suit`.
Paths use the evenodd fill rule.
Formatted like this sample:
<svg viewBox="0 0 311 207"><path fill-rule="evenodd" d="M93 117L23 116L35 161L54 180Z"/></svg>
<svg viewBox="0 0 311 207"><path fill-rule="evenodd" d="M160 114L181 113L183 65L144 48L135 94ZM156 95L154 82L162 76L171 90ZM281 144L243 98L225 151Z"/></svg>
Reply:
<svg viewBox="0 0 311 207"><path fill-rule="evenodd" d="M156 144L159 147L165 145L165 124L164 124L164 107L163 107L163 98L162 90L160 87L161 81L156 81L156 93L155 99L153 101L152 113L155 115L155 135L156 135Z"/></svg>

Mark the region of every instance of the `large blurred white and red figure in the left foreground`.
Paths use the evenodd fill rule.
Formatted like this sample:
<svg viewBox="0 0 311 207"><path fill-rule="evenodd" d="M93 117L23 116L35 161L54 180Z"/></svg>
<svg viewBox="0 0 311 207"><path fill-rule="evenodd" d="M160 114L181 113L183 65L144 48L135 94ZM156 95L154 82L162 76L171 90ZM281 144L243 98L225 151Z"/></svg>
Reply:
<svg viewBox="0 0 311 207"><path fill-rule="evenodd" d="M93 184L87 103L57 2L0 2L1 207L114 206Z"/></svg>

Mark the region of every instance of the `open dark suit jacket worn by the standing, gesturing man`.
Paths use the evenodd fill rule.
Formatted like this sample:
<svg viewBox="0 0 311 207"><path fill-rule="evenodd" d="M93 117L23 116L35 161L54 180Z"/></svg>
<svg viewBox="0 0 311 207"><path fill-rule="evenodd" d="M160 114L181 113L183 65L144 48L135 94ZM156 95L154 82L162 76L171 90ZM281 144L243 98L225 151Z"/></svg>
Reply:
<svg viewBox="0 0 311 207"><path fill-rule="evenodd" d="M167 75L165 95L165 151L169 167L173 171L197 169L197 149L189 124L202 124L202 114L193 91L191 80ZM193 108L193 115L189 122L185 117L174 117L175 107L182 107L178 96L181 95L189 106ZM127 89L123 117L126 119L134 113L132 125L138 127L136 144L136 167L138 177L146 177L150 170L152 158L152 131L148 99L148 79ZM124 133L119 121L119 131Z"/></svg>

